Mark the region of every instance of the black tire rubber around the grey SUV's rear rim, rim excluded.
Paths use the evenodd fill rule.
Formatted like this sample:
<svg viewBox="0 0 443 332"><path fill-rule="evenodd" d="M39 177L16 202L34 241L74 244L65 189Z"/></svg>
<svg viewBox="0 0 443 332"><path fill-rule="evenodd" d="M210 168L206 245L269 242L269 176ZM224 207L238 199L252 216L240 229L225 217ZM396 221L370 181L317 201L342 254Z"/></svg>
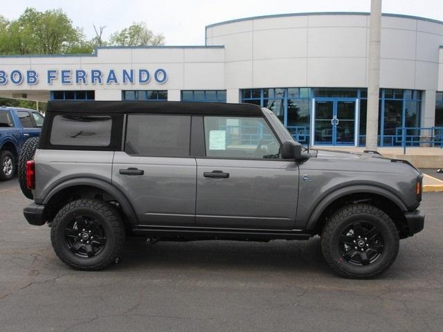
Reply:
<svg viewBox="0 0 443 332"><path fill-rule="evenodd" d="M66 241L65 230L73 218L94 216L105 230L106 243L93 257L78 257ZM65 205L55 216L51 226L51 243L55 254L64 264L75 270L102 270L118 259L125 242L125 225L120 213L109 203L98 199L79 199Z"/></svg>

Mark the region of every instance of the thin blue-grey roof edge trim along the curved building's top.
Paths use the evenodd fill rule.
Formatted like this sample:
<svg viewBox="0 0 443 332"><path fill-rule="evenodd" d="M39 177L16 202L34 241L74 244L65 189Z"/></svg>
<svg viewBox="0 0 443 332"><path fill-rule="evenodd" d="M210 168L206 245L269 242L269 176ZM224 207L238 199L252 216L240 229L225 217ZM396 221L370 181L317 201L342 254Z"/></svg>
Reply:
<svg viewBox="0 0 443 332"><path fill-rule="evenodd" d="M262 16L253 16L253 17L244 17L242 19L231 19L229 21L223 21L219 23L209 24L205 28L213 28L215 26L222 26L224 24L230 24L241 21L251 21L253 19L271 19L275 17L291 17L291 16L314 16L314 15L365 15L369 16L369 12L293 12L289 14L275 14L275 15L262 15ZM426 17L412 16L412 15L401 15L401 14L389 14L383 13L381 14L384 17L400 17L402 19L419 19L421 21L428 21L437 24L443 24L443 21L439 21L437 19L427 19Z"/></svg>

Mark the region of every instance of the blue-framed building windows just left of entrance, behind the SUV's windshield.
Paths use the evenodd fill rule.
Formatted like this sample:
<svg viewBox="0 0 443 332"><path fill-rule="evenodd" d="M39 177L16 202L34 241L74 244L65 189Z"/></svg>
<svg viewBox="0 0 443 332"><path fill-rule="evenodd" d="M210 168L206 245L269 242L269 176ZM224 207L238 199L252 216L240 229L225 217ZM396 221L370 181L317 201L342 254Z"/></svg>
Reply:
<svg viewBox="0 0 443 332"><path fill-rule="evenodd" d="M298 142L309 145L311 89L243 89L241 97L242 102L273 111Z"/></svg>

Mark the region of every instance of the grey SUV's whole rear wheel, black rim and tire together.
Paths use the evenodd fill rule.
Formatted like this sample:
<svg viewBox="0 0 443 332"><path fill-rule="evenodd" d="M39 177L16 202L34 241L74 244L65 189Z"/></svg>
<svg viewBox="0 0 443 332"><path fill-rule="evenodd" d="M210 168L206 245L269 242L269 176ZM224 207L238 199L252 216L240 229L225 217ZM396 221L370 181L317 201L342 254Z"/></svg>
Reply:
<svg viewBox="0 0 443 332"><path fill-rule="evenodd" d="M51 242L64 264L101 270L118 259L125 226L118 211L96 199L79 199L62 208L51 227Z"/></svg>

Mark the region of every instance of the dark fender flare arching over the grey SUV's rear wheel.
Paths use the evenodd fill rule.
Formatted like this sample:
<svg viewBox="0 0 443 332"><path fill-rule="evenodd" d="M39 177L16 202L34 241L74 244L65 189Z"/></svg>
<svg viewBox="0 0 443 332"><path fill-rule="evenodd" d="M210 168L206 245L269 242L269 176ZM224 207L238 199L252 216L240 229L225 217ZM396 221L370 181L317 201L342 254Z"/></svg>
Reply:
<svg viewBox="0 0 443 332"><path fill-rule="evenodd" d="M60 183L59 185L53 187L53 189L51 189L51 191L46 195L42 203L47 204L53 198L53 196L55 196L61 190L69 187L77 187L79 185L97 187L101 190L104 190L105 192L108 192L117 199L118 203L120 203L121 208L127 216L129 223L138 223L136 212L134 211L132 204L129 202L129 199L127 199L125 194L123 194L123 192L120 192L120 190L114 187L114 185L111 185L111 183L107 183L96 178L72 178L70 180L64 181L63 183Z"/></svg>

